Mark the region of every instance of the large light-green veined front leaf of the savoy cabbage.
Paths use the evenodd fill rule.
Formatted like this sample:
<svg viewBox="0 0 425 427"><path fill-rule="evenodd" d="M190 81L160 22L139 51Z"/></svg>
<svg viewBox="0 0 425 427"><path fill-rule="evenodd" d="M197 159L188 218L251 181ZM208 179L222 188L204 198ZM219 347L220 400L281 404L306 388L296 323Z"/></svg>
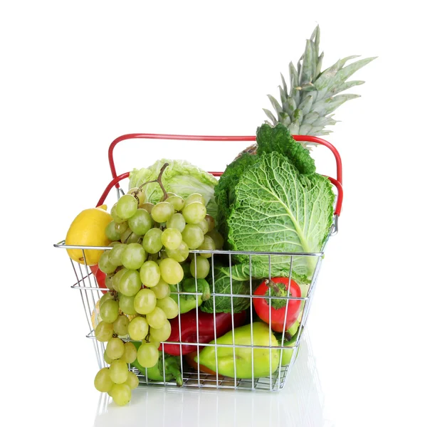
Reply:
<svg viewBox="0 0 425 427"><path fill-rule="evenodd" d="M320 252L332 225L335 194L319 174L300 174L282 154L263 154L240 177L235 203L227 217L229 246L234 251ZM248 263L248 255L236 255ZM295 274L310 279L316 257L294 256ZM268 256L251 263L268 277ZM288 273L290 256L271 256L272 275Z"/></svg>

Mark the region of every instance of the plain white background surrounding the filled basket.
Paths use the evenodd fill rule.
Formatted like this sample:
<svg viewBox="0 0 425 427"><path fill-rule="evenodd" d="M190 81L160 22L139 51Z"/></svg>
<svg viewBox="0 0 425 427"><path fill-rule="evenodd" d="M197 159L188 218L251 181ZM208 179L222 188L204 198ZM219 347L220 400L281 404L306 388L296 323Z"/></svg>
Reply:
<svg viewBox="0 0 425 427"><path fill-rule="evenodd" d="M424 60L417 2L14 1L0 6L3 426L423 426ZM378 56L327 139L344 166L308 342L279 394L141 389L117 408L69 260L53 243L110 181L131 132L254 135L320 24L325 67ZM122 143L224 169L246 144ZM319 172L335 174L318 149Z"/></svg>

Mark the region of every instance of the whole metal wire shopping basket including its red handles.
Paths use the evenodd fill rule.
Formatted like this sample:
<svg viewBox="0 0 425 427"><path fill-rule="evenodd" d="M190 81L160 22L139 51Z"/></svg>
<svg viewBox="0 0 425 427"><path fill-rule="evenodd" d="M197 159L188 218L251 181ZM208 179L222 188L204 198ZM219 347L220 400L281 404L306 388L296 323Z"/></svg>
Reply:
<svg viewBox="0 0 425 427"><path fill-rule="evenodd" d="M234 327L235 325L235 317L234 317L234 298L249 298L251 302L254 300L254 298L258 297L254 295L254 290L256 288L256 285L258 284L258 281L253 280L251 276L251 261L252 257L258 257L262 256L265 257L268 260L268 267L269 267L269 277L268 279L271 279L271 267L273 265L273 259L275 257L288 257L290 270L289 270L289 279L292 275L292 265L293 265L293 259L294 257L308 257L315 261L315 270L313 273L312 280L310 282L310 285L308 285L308 290L305 293L305 296L303 297L294 297L292 295L283 296L283 297L273 297L273 299L285 299L287 300L287 304L285 305L285 320L284 325L286 324L286 317L288 314L288 305L291 300L301 300L303 309L300 312L299 317L299 327L298 331L295 334L295 337L293 338L290 345L285 344L283 341L284 335L281 337L278 346L271 345L271 336L273 334L271 330L271 326L268 326L269 336L270 340L268 342L269 345L253 345L253 329L251 326L251 342L248 344L215 344L215 340L217 339L216 334L216 315L214 313L214 341L211 340L210 342L200 342L199 341L199 316L201 315L201 311L198 307L196 307L195 314L196 314L196 339L192 340L194 342L182 342L182 329L181 329L181 315L179 315L178 318L178 324L179 324L179 340L178 341L167 341L167 344L174 344L179 346L180 349L182 349L182 346L191 346L193 349L193 352L196 352L196 354L199 355L199 352L204 347L229 347L233 351L233 364L234 364L234 372L237 374L236 369L236 351L241 351L241 349L244 349L245 354L250 353L251 354L251 364L252 364L252 371L251 371L251 377L246 378L237 378L237 377L231 377L231 376L223 376L220 374L217 374L216 372L218 369L218 359L217 355L215 356L216 359L216 369L211 371L211 369L202 369L199 367L199 365L194 364L187 364L187 359L184 357L182 352L179 354L180 358L180 365L181 365L181 371L182 371L182 379L183 379L183 386L185 387L210 387L210 388L227 388L227 389L260 389L260 390L278 390L283 389L283 386L285 386L285 381L288 377L288 374L290 370L293 367L293 364L295 363L296 356L298 354L298 347L300 346L300 341L303 337L303 331L305 329L306 322L308 320L308 313L310 311L310 305L311 301L313 299L314 291L316 288L316 283L318 279L318 273L320 270L320 265L322 263L322 257L324 255L325 246L327 244L328 239L333 234L337 233L337 220L340 216L341 206L342 206L342 162L340 159L340 154L337 152L337 149L330 144L329 142L325 141L324 139L320 139L318 137L311 137L311 136L305 136L305 135L295 135L294 138L298 141L305 141L305 142L313 142L315 144L320 144L322 146L327 147L331 150L332 154L334 154L335 160L336 160L336 166L337 166L337 178L331 178L327 176L327 178L330 179L332 184L335 186L335 189L337 190L337 198L335 202L335 215L334 215L334 221L332 223L332 226L330 227L329 233L327 235L327 238L325 239L325 243L322 246L322 249L318 253L290 253L290 252L280 252L280 253L260 253L260 252L241 252L241 251L199 251L199 250L192 250L190 251L196 258L196 256L199 256L200 253L211 253L211 270L214 271L214 263L216 262L217 258L221 258L221 262L225 260L225 262L229 263L229 266L232 264L232 257L236 254L244 254L248 256L249 265L250 265L250 278L249 278L249 286L250 286L250 293L249 295L238 295L236 292L233 292L232 289L232 278L230 275L230 292L229 294L223 294L223 293L217 293L215 292L215 280L214 280L214 274L212 275L212 283L211 285L211 298L213 299L213 304L215 307L215 299L216 297L231 297L231 333L233 334L232 342L234 343ZM120 187L120 181L123 179L126 179L130 176L130 172L126 172L124 174L117 175L117 172L115 170L115 163L114 163L114 157L113 157L113 151L115 146L126 139L174 139L174 140L184 140L184 141L212 141L212 142L255 142L256 137L253 136L242 136L242 137L229 137L229 136L199 136L199 135L157 135L157 134L129 134L129 135L122 135L121 137L118 137L115 139L112 144L110 144L109 151L108 151L108 158L110 163L110 169L112 172L112 181L107 185L105 191L103 191L102 196L100 196L100 199L98 201L98 204L96 206L100 206L104 203L106 197L108 194L110 194L110 191L112 187L115 186L115 189L117 191L117 199L120 198L125 192ZM210 172L214 176L220 176L221 172ZM98 249L103 251L108 251L111 249L110 246L103 247L103 246L67 246L65 245L65 241L62 241L61 243L58 243L54 245L56 248L78 248L83 251L83 257L85 260L85 251L88 249ZM87 318L89 332L86 335L89 339L92 339L93 345L95 347L95 354L98 359L98 365L99 369L102 367L107 367L107 364L105 363L105 360L103 358L103 354L105 352L105 343L104 342L98 342L97 339L95 339L95 325L98 322L98 311L96 310L96 303L100 299L100 297L105 293L104 288L100 288L97 280L95 279L95 274L93 273L95 270L93 270L93 266L89 266L86 263L80 264L76 263L73 260L71 261L71 265L73 268L73 271L75 273L76 283L71 286L71 288L79 290L81 300L83 302L84 312L85 316ZM231 271L231 270L230 270ZM290 291L290 287L288 288L288 292ZM180 297L181 295L201 295L201 292L172 292L174 294L177 293L177 300L178 304L180 305ZM270 296L265 296L265 298L271 298ZM269 304L269 307L271 305ZM255 310L253 310L253 304L249 305L249 308L246 310L247 319L253 319L255 316ZM271 317L269 312L269 317ZM247 322L249 323L249 322ZM252 323L251 323L252 325ZM283 331L285 331L285 328L283 328ZM125 341L132 341L130 337L123 338ZM163 378L162 381L152 381L149 379L149 376L147 374L147 371L141 369L138 370L135 367L132 367L129 365L129 369L131 369L140 380L140 386L144 385L155 385L155 386L176 386L177 383L174 380L167 381L165 377L165 365L164 365L164 343L162 343L162 364L163 364ZM270 357L270 371L268 372L268 375L262 376L262 377L255 377L254 376L254 350L263 350L268 352ZM272 371L272 352L273 357L276 356L276 352L278 352L279 357L279 364L278 369L276 371ZM290 353L285 353L290 352ZM217 353L215 353L217 354ZM289 362L282 364L281 362L283 359L288 359L288 357L283 357L284 355L290 354Z"/></svg>

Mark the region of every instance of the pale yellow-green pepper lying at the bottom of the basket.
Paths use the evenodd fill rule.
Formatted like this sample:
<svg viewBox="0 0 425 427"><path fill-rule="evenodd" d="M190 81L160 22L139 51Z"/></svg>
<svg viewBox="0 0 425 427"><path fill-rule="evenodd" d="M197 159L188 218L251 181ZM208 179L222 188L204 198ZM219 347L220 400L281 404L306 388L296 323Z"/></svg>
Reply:
<svg viewBox="0 0 425 427"><path fill-rule="evenodd" d="M251 326L252 337L251 342ZM235 341L233 341L233 335ZM263 322L253 322L249 325L236 327L234 332L230 331L222 337L211 341L210 344L230 344L229 347L204 347L195 357L196 363L216 371L216 357L218 373L224 376L236 378L258 378L269 376L278 369L280 352L279 349L266 347L278 347L278 340L273 333L270 334L268 325ZM231 347L231 344L246 346L265 346L263 348ZM216 356L217 355L217 356ZM234 360L236 359L236 363ZM271 362L271 363L270 363ZM236 365L236 373L235 367Z"/></svg>

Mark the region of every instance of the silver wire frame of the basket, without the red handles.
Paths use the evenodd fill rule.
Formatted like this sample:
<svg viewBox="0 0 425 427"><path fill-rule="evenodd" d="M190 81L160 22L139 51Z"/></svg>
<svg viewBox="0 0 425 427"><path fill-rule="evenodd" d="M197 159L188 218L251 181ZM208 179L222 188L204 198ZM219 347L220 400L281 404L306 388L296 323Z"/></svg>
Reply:
<svg viewBox="0 0 425 427"><path fill-rule="evenodd" d="M248 251L190 251L190 253L193 253L194 258L196 259L197 256L201 255L201 253L210 253L211 258L211 281L210 283L212 292L211 292L211 298L213 302L213 308L214 308L214 341L212 344L210 343L204 343L199 342L199 328L196 327L196 342L182 342L182 323L180 320L180 315L178 316L178 324L179 324L179 342L172 342L167 341L167 344L177 344L180 347L180 366L182 371L182 379L183 379L183 386L184 387L206 387L206 388L213 388L213 389L251 389L251 390L268 390L268 391L276 391L279 389L283 389L283 386L285 386L285 381L287 379L287 376L290 372L290 369L293 367L293 364L295 362L296 354L298 352L298 347L300 345L300 339L303 337L303 330L305 328L305 324L308 320L308 313L310 311L310 304L311 300L314 294L314 290L316 287L317 279L318 279L318 273L320 270L320 265L322 263L322 256L324 254L325 246L327 244L327 241L329 237L332 235L332 233L335 232L335 225L332 224L330 228L330 232L327 236L327 239L322 247L322 251L319 253L267 253L267 252L248 252ZM83 308L85 312L85 317L88 322L89 332L86 335L89 339L93 340L93 346L95 348L95 355L98 362L99 369L103 367L107 367L103 354L105 352L105 343L99 342L95 338L95 325L99 322L98 317L98 310L96 310L96 303L100 299L100 297L103 295L102 291L105 292L107 290L100 288L98 286L98 283L95 280L95 275L91 272L90 268L88 267L87 263L85 262L85 251L88 251L90 249L103 249L105 251L108 251L112 249L110 246L69 246L65 245L65 242L62 241L61 243L58 243L56 245L57 248L80 248L83 251L83 258L84 263L80 264L73 260L70 260L73 271L75 273L76 283L71 286L71 288L75 290L79 290L80 297L83 302ZM234 285L234 278L232 277L232 269L230 268L230 292L229 293L218 293L216 292L215 285L216 280L214 276L214 266L216 263L216 257L221 255L221 263L224 258L227 258L229 267L231 267L233 263L233 256L234 255L248 255L248 263L249 263L249 295L240 295L233 292L233 285ZM249 345L242 345L242 344L215 344L216 339L218 338L216 335L216 297L230 297L231 301L231 312L234 313L234 298L248 298L250 301L249 307L246 310L247 315L249 318L253 319L253 315L255 315L255 311L253 310L253 304L252 300L254 298L258 298L260 296L253 295L254 292L254 285L253 285L253 276L252 276L252 258L253 256L263 256L268 259L268 278L271 279L271 270L273 265L273 258L274 257L288 257L289 258L289 279L292 277L293 273L293 260L295 257L310 257L315 260L315 270L311 279L311 283L308 286L308 291L306 292L305 297L293 297L292 295L289 295L290 292L290 280L288 285L288 294L287 296L271 296L270 291L268 295L261 296L261 298L265 299L271 299L273 300L301 300L302 303L302 315L300 316L300 326L297 334L297 339L293 347L285 347L282 342L279 343L279 345L272 346L271 345L271 338L272 338L272 329L271 329L271 322L268 325L269 330L269 345L268 346L259 346L259 345L253 345L253 327L251 322L251 344ZM196 263L195 263L195 275L196 275ZM196 281L197 285L197 281ZM177 295L177 305L180 307L180 297L182 295L202 295L201 292L172 292L172 294ZM289 296L288 296L289 295ZM269 307L269 318L271 318L271 304L268 304ZM196 326L198 326L198 312L199 307L196 307L194 310L196 310ZM288 315L288 304L285 305L285 320L284 325L286 325ZM94 322L94 325L93 325ZM234 333L234 317L231 317L232 322L232 328L231 328L231 334L232 334L232 342L235 342L235 333ZM124 341L133 341L130 339L130 337L122 337ZM215 347L218 349L219 347L230 347L233 350L234 354L234 372L236 372L236 376L228 377L223 376L220 374L217 374L219 371L219 357L217 356L217 352L215 351L215 372L216 374L206 374L202 372L199 369L194 369L189 366L184 361L184 357L182 354L182 345L191 345L194 347L194 351L196 351L196 354L199 357L199 352L201 352L201 349L203 347ZM241 379L237 377L237 365L236 365L236 349L250 349L251 350L251 378L248 379ZM254 376L254 350L256 349L263 349L268 350L268 358L269 358L269 373L268 376L264 376L262 378L256 378ZM283 358L283 352L284 351L290 351L292 350L292 357L290 358L290 363L288 365L281 366L281 361ZM276 354L278 352L278 369L276 371L272 371L272 358L273 354ZM175 380L167 381L165 378L165 358L164 358L164 347L162 347L162 371L164 372L163 381L152 381L147 376L147 369L145 371L139 371L137 368L132 367L129 365L130 371L134 372L138 378L140 386L177 386L177 383Z"/></svg>

